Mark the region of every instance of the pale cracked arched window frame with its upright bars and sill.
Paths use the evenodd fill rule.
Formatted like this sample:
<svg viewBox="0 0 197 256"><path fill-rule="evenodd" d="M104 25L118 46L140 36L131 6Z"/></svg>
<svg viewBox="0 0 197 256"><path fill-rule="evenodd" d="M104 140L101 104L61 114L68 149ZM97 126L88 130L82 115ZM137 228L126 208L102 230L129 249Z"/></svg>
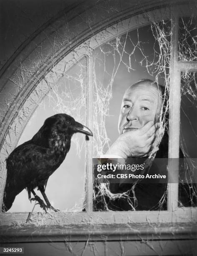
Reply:
<svg viewBox="0 0 197 256"><path fill-rule="evenodd" d="M184 14L183 14L184 13ZM125 20L117 23L117 27L114 29L114 26L106 28L104 31L97 33L92 36L90 39L85 41L83 44L78 46L73 52L65 56L46 76L45 78L37 85L36 90L43 90L43 87L47 88L48 84L54 82L54 76L56 80L65 72L62 65L63 62L70 63L71 66L76 63L81 57L86 56L88 62L88 97L87 97L87 120L86 125L93 129L93 108L92 108L92 95L93 95L93 82L92 82L92 61L93 61L93 50L98 46L101 46L106 41L110 41L116 36L124 34L126 31L131 31L141 26L146 26L151 23L151 21L159 21L164 19L172 19L172 45L171 47L171 64L170 64L170 123L169 123L169 158L178 158L179 152L179 136L174 136L174 134L179 135L179 120L180 120L180 72L187 71L197 71L197 63L193 62L182 62L177 61L177 47L178 47L178 18L180 16L187 16L191 14L189 8L185 10L185 6L179 6L178 8L162 8L159 10L148 11L144 14L139 14L127 18ZM148 17L148 18L147 18ZM117 29L117 30L116 30ZM88 45L88 49L86 48ZM74 61L73 61L74 60ZM71 66L68 68L71 68ZM53 75L52 75L53 74ZM52 81L52 80L53 81ZM178 82L177 82L178 81ZM176 86L175 86L176 85ZM41 89L42 88L42 89ZM46 89L47 91L47 89ZM35 90L31 92L35 93ZM45 92L44 92L45 93ZM31 94L30 94L31 95ZM29 99L30 96L29 95ZM174 96L176 95L176 100ZM177 95L179 97L177 97ZM39 102L42 99L38 99ZM173 104L172 104L173 100ZM37 104L35 102L35 105ZM27 102L28 103L28 100ZM34 106L35 107L35 106ZM23 109L25 108L25 103L23 104ZM21 111L23 111L23 109ZM33 108L30 113L33 112ZM172 122L173 120L173 122ZM7 139L14 141L13 145L10 147L10 152L17 145L20 134L23 132L23 128L28 120L25 120L23 125L20 127L20 133L17 136L13 136L8 132ZM15 118L15 121L10 126L10 131L18 125L18 120ZM177 133L178 132L178 133ZM10 137L11 136L11 137ZM12 137L13 136L13 137ZM6 138L4 140L4 146L2 147L1 154L6 155L10 152L6 152ZM40 212L35 212L32 215L33 219L36 219L39 223L45 225L79 225L81 223L86 224L119 224L119 223L171 223L171 222L194 222L197 221L197 207L178 207L178 184L168 184L168 210L167 211L129 211L129 212L93 212L93 176L92 176L92 146L93 140L90 138L90 141L86 142L86 184L87 184L87 212L54 212L51 215L53 219L45 218ZM5 185L5 165L3 166L3 182L1 183L1 194L0 198L2 202L3 197L3 188ZM169 165L169 171L172 169L172 166ZM178 174L177 174L178 177ZM14 213L0 213L0 220L2 225L10 225L14 223L25 223L28 218L28 212L14 212Z"/></svg>

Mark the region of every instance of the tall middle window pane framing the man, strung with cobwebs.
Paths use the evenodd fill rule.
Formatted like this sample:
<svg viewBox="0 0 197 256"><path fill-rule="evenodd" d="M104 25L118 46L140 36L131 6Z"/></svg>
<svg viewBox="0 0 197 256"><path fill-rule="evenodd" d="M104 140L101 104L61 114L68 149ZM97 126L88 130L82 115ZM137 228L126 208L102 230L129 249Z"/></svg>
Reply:
<svg viewBox="0 0 197 256"><path fill-rule="evenodd" d="M109 154L113 143L116 143L117 146L119 138L126 131L131 131L130 128L133 128L133 131L138 130L151 120L154 121L154 125L158 121L160 126L156 125L157 133L154 132L154 139L152 137L152 141L148 142L150 151L146 150L147 154L143 153L145 156L138 155L137 157L144 156L144 161L147 160L147 156L150 156L151 159L154 159L154 157L168 157L167 99L169 91L170 26L170 22L162 21L151 26L128 31L128 33L96 49L93 67L95 113L93 133L98 134L94 144L95 158L102 154ZM139 82L143 79L145 79L144 82ZM130 93L130 90L133 89L128 88L137 82L139 83L132 87L137 89ZM159 86L157 83L159 83ZM148 105L143 105L140 102L142 104L139 108L141 114L135 113L137 117L133 117L133 120L136 121L132 122L132 117L126 120L120 114L123 108L121 105L122 99L126 92L128 92L127 97L136 96L136 98L141 97L141 95L147 96L149 92L153 92L154 96L149 95L151 100L144 98L142 100L146 103L148 101L154 102L154 107L149 108ZM136 105L138 104L133 98L129 100L134 101ZM124 105L125 111L132 107L129 106L129 101ZM129 124L128 129L126 124ZM135 135L132 136L134 138ZM119 146L121 148L122 145L119 144ZM159 150L157 150L157 147L159 147ZM115 155L120 156L119 154ZM125 157L127 164L129 164L129 161L133 161L129 157L129 155ZM160 170L158 171L160 172ZM94 210L167 210L167 184L122 184L121 181L116 184L99 184L98 181L95 181Z"/></svg>

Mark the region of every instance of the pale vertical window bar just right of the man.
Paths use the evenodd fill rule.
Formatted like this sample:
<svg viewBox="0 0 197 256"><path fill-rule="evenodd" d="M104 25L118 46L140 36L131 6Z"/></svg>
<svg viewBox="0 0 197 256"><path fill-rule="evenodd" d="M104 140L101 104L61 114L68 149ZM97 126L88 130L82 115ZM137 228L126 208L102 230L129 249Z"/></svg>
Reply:
<svg viewBox="0 0 197 256"><path fill-rule="evenodd" d="M179 136L180 136L180 84L181 77L177 63L178 50L178 13L172 9L172 37L170 59L170 90L169 90L169 177L173 174L174 183L168 184L168 210L178 207L178 178L179 178Z"/></svg>

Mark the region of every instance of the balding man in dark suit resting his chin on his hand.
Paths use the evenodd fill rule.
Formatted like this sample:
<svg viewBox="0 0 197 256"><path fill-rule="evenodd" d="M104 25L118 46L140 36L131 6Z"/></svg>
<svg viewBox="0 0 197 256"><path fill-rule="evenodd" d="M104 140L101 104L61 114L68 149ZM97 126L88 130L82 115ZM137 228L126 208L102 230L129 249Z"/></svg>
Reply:
<svg viewBox="0 0 197 256"><path fill-rule="evenodd" d="M119 138L103 158L129 158L149 156L158 131L162 108L163 87L150 79L132 84L124 93L119 115ZM168 137L164 134L157 158L168 157ZM109 184L113 194L126 192L127 196L111 199L100 195L95 184L94 210L166 210L166 184ZM105 202L105 203L104 203Z"/></svg>

